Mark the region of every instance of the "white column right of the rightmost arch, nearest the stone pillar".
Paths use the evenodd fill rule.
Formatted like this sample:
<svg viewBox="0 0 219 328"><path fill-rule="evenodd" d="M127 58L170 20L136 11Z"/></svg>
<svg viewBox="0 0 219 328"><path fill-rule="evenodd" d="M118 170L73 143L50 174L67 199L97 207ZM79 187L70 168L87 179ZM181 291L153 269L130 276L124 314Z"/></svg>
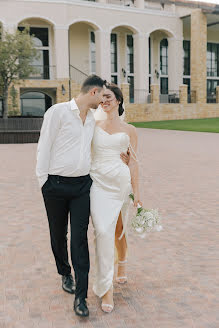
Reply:
<svg viewBox="0 0 219 328"><path fill-rule="evenodd" d="M183 40L168 38L168 88L179 91L183 83Z"/></svg>

